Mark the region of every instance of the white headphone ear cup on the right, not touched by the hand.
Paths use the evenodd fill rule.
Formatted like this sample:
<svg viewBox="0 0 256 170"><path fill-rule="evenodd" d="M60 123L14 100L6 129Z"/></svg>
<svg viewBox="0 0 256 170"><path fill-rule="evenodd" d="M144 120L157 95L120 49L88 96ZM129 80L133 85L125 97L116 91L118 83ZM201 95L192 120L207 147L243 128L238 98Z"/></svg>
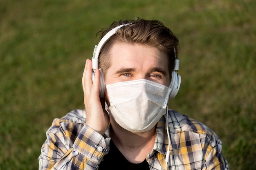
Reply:
<svg viewBox="0 0 256 170"><path fill-rule="evenodd" d="M172 81L169 86L171 88L170 98L174 98L180 89L181 77L176 71L172 71Z"/></svg>

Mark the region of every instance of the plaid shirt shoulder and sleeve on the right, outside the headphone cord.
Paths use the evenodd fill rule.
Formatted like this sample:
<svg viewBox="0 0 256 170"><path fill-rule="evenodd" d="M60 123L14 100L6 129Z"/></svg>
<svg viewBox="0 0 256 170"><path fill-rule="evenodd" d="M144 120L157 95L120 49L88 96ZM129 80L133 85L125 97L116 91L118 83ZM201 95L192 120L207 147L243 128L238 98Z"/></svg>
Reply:
<svg viewBox="0 0 256 170"><path fill-rule="evenodd" d="M221 140L213 130L175 110L169 113L171 114L169 114L168 127L173 156L169 169L174 167L174 169L229 170L228 162L222 155Z"/></svg>

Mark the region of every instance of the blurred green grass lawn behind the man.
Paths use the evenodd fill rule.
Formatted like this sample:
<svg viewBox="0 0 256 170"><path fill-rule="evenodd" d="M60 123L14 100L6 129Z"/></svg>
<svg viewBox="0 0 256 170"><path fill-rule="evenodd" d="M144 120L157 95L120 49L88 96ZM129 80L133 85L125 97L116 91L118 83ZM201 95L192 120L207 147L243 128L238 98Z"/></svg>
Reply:
<svg viewBox="0 0 256 170"><path fill-rule="evenodd" d="M182 85L170 108L212 128L230 169L256 167L256 1L0 1L0 169L38 168L55 117L83 109L95 34L157 19L180 39Z"/></svg>

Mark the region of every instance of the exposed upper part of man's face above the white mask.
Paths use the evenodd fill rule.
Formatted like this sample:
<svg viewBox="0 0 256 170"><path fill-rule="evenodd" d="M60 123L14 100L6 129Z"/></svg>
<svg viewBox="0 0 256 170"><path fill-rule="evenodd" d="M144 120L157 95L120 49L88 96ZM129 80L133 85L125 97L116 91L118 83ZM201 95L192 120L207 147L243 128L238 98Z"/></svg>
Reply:
<svg viewBox="0 0 256 170"><path fill-rule="evenodd" d="M117 43L110 50L111 66L105 73L106 84L147 79L170 84L168 57L155 47Z"/></svg>

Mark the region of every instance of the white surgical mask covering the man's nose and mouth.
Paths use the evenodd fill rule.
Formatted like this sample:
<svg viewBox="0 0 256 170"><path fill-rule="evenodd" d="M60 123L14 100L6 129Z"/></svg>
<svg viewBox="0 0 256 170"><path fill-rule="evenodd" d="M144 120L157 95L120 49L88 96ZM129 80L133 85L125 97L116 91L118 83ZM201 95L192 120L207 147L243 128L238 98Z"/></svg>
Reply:
<svg viewBox="0 0 256 170"><path fill-rule="evenodd" d="M107 111L130 132L146 132L166 114L171 88L146 79L106 84Z"/></svg>

